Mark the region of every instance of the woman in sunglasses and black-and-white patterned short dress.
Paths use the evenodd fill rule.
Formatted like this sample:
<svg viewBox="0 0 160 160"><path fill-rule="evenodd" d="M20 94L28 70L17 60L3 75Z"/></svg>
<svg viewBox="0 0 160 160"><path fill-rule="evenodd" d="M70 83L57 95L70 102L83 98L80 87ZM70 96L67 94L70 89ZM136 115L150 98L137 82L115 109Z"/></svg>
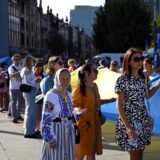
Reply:
<svg viewBox="0 0 160 160"><path fill-rule="evenodd" d="M131 160L142 160L145 145L150 144L151 126L144 99L146 97L142 51L127 50L123 61L123 74L117 79L117 108L119 120L116 125L116 141L129 152ZM160 87L158 83L149 90L151 97Z"/></svg>

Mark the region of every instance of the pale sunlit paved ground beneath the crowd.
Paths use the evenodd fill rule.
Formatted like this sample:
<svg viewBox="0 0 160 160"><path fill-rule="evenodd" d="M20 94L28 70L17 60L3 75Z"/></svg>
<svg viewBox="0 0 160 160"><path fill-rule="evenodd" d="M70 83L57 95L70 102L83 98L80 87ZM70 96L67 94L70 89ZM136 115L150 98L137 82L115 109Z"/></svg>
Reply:
<svg viewBox="0 0 160 160"><path fill-rule="evenodd" d="M25 139L22 123L13 124L5 113L0 113L0 160L38 160L41 139ZM128 160L115 143L103 143L104 154L97 160ZM152 159L155 160L155 159ZM158 160L158 159L157 159Z"/></svg>

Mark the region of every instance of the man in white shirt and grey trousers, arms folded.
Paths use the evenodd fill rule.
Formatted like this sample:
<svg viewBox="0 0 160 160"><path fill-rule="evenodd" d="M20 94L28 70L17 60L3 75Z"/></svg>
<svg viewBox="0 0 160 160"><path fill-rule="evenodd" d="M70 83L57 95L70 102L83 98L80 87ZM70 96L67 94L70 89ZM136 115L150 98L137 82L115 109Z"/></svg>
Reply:
<svg viewBox="0 0 160 160"><path fill-rule="evenodd" d="M21 117L21 110L24 107L24 98L22 92L19 90L20 84L22 83L20 77L21 65L19 64L20 55L15 54L12 57L13 64L8 68L10 75L9 92L12 108L13 123L17 123L18 119L23 120Z"/></svg>

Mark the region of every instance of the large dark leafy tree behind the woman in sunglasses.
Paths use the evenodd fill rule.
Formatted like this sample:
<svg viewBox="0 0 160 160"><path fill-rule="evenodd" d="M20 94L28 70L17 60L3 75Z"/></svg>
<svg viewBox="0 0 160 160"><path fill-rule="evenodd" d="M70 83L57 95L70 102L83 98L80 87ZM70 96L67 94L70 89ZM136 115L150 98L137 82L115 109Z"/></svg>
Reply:
<svg viewBox="0 0 160 160"><path fill-rule="evenodd" d="M99 52L125 52L144 49L150 32L151 12L142 1L112 0L96 13L93 41Z"/></svg>

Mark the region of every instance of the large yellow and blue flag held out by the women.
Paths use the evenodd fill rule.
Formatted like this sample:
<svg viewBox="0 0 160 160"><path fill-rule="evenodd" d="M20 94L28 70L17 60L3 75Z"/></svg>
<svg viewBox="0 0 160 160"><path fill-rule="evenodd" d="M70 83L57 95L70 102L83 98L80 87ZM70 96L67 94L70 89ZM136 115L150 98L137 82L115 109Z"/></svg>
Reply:
<svg viewBox="0 0 160 160"><path fill-rule="evenodd" d="M72 89L74 89L77 84L79 70L80 68L71 73ZM114 87L116 80L119 76L120 73L112 72L107 68L99 70L99 74L95 82L98 85L101 99L109 99L112 97L116 97L116 94L114 93ZM154 86L160 80L160 75L155 78L150 78L151 85ZM105 115L106 119L113 121L117 120L118 111L116 108L116 102L101 105L101 110L102 113ZM150 110L151 116L154 119L154 128L152 132L154 134L160 134L160 89L150 98Z"/></svg>

